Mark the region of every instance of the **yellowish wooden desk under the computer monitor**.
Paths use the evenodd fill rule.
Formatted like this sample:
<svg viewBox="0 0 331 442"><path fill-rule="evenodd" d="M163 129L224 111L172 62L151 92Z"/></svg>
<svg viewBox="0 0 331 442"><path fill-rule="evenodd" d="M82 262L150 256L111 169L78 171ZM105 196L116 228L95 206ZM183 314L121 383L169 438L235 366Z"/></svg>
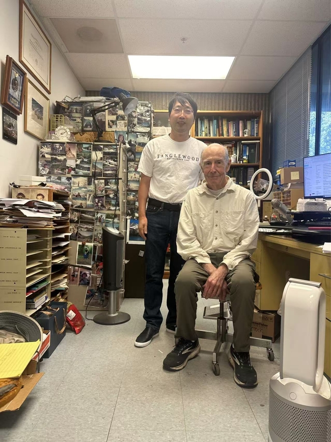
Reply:
<svg viewBox="0 0 331 442"><path fill-rule="evenodd" d="M260 275L262 290L256 306L278 310L285 285L290 277L321 282L326 294L326 335L324 371L331 377L331 257L315 244L288 236L259 234L252 259Z"/></svg>

